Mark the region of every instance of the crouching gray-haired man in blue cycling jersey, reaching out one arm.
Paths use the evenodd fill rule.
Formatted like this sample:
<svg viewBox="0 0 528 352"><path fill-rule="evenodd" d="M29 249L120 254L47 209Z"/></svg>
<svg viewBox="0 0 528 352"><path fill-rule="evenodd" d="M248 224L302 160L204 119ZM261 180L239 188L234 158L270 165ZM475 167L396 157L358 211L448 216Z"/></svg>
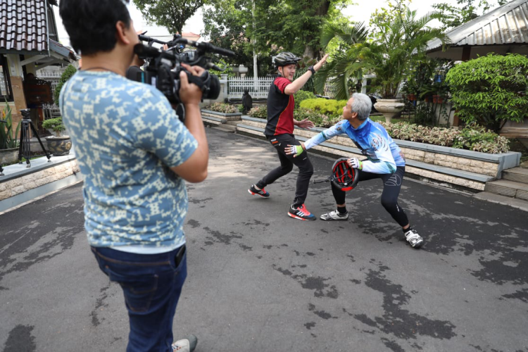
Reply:
<svg viewBox="0 0 528 352"><path fill-rule="evenodd" d="M300 155L303 151L317 146L338 134L346 133L361 149L367 160L348 159L352 168L359 170L359 182L380 178L383 180L382 206L402 227L406 240L413 248L420 248L422 237L410 227L405 211L398 205L406 161L400 148L394 143L382 125L368 118L372 102L365 94L353 94L343 108L343 120L329 129L308 139L301 146L290 146L287 153ZM321 215L321 220L346 220L346 193L332 184L332 193L337 209Z"/></svg>

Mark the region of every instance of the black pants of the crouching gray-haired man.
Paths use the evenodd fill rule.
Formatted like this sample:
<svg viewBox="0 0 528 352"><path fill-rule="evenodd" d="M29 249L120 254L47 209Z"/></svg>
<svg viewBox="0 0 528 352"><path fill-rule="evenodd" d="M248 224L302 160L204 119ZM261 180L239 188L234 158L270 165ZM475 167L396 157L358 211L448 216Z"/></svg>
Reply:
<svg viewBox="0 0 528 352"><path fill-rule="evenodd" d="M396 167L396 172L393 174L375 174L359 170L359 182L375 178L383 180L382 206L401 227L409 223L406 212L398 206L398 196L400 195L401 183L403 182L405 172L405 166ZM332 193L337 204L345 203L345 191L341 191L341 189L338 189L332 184Z"/></svg>

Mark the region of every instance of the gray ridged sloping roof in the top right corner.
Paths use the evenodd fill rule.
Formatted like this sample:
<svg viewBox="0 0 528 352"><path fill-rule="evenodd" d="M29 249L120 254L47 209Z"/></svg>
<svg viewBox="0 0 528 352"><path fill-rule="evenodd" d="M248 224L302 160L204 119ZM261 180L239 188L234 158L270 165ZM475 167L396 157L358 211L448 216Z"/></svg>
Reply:
<svg viewBox="0 0 528 352"><path fill-rule="evenodd" d="M481 46L528 43L528 0L508 4L460 25L446 33L451 46ZM439 39L427 45L427 51L441 46Z"/></svg>

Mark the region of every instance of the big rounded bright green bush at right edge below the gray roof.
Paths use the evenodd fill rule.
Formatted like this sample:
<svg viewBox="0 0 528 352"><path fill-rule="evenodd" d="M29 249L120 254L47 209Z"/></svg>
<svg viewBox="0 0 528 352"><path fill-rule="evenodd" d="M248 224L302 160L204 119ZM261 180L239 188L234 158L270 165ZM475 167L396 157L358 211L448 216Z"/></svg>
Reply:
<svg viewBox="0 0 528 352"><path fill-rule="evenodd" d="M446 76L458 117L497 132L503 120L528 117L528 58L488 54L451 68Z"/></svg>

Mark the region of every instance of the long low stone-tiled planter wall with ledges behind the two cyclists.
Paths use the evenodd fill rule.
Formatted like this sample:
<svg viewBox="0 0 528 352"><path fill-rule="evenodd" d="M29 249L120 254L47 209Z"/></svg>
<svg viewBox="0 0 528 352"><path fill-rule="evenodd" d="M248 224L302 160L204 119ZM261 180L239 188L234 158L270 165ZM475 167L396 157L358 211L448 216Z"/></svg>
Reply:
<svg viewBox="0 0 528 352"><path fill-rule="evenodd" d="M244 116L242 122L237 124L237 132L262 137L265 124L266 120ZM296 127L294 133L298 140L306 141L322 130L324 129L315 127L308 131ZM394 142L406 157L406 174L451 188L483 191L486 182L500 179L503 170L520 164L521 154L516 152L488 154L399 139ZM329 139L310 151L320 151L331 156L365 158L347 136Z"/></svg>

